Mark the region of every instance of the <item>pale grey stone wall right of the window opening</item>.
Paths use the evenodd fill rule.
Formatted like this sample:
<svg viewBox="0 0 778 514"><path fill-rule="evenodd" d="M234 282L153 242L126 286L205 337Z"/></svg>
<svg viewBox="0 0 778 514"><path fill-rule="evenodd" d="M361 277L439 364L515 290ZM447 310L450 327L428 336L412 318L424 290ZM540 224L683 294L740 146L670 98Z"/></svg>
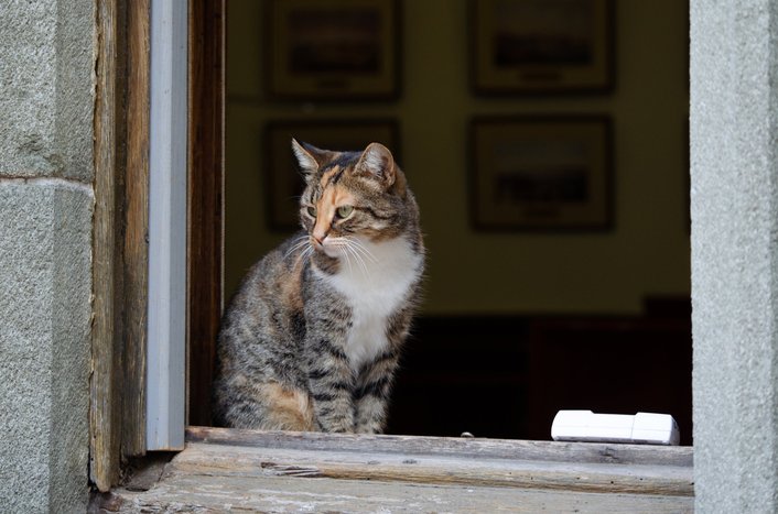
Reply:
<svg viewBox="0 0 778 514"><path fill-rule="evenodd" d="M698 512L778 512L778 2L691 1Z"/></svg>

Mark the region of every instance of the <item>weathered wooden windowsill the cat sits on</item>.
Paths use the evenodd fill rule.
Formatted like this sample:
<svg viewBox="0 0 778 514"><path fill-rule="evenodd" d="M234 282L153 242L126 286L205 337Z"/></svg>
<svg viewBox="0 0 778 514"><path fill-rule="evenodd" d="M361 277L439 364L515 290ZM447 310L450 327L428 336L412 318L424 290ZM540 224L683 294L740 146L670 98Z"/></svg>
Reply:
<svg viewBox="0 0 778 514"><path fill-rule="evenodd" d="M102 512L692 512L692 448L191 427Z"/></svg>

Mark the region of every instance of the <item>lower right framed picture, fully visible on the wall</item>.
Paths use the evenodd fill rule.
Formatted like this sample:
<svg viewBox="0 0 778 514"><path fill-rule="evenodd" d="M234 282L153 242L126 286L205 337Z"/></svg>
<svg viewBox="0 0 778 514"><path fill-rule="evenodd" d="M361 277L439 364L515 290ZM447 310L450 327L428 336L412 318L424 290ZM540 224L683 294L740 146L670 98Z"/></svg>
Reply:
<svg viewBox="0 0 778 514"><path fill-rule="evenodd" d="M476 118L471 214L483 230L604 230L612 226L606 117Z"/></svg>

